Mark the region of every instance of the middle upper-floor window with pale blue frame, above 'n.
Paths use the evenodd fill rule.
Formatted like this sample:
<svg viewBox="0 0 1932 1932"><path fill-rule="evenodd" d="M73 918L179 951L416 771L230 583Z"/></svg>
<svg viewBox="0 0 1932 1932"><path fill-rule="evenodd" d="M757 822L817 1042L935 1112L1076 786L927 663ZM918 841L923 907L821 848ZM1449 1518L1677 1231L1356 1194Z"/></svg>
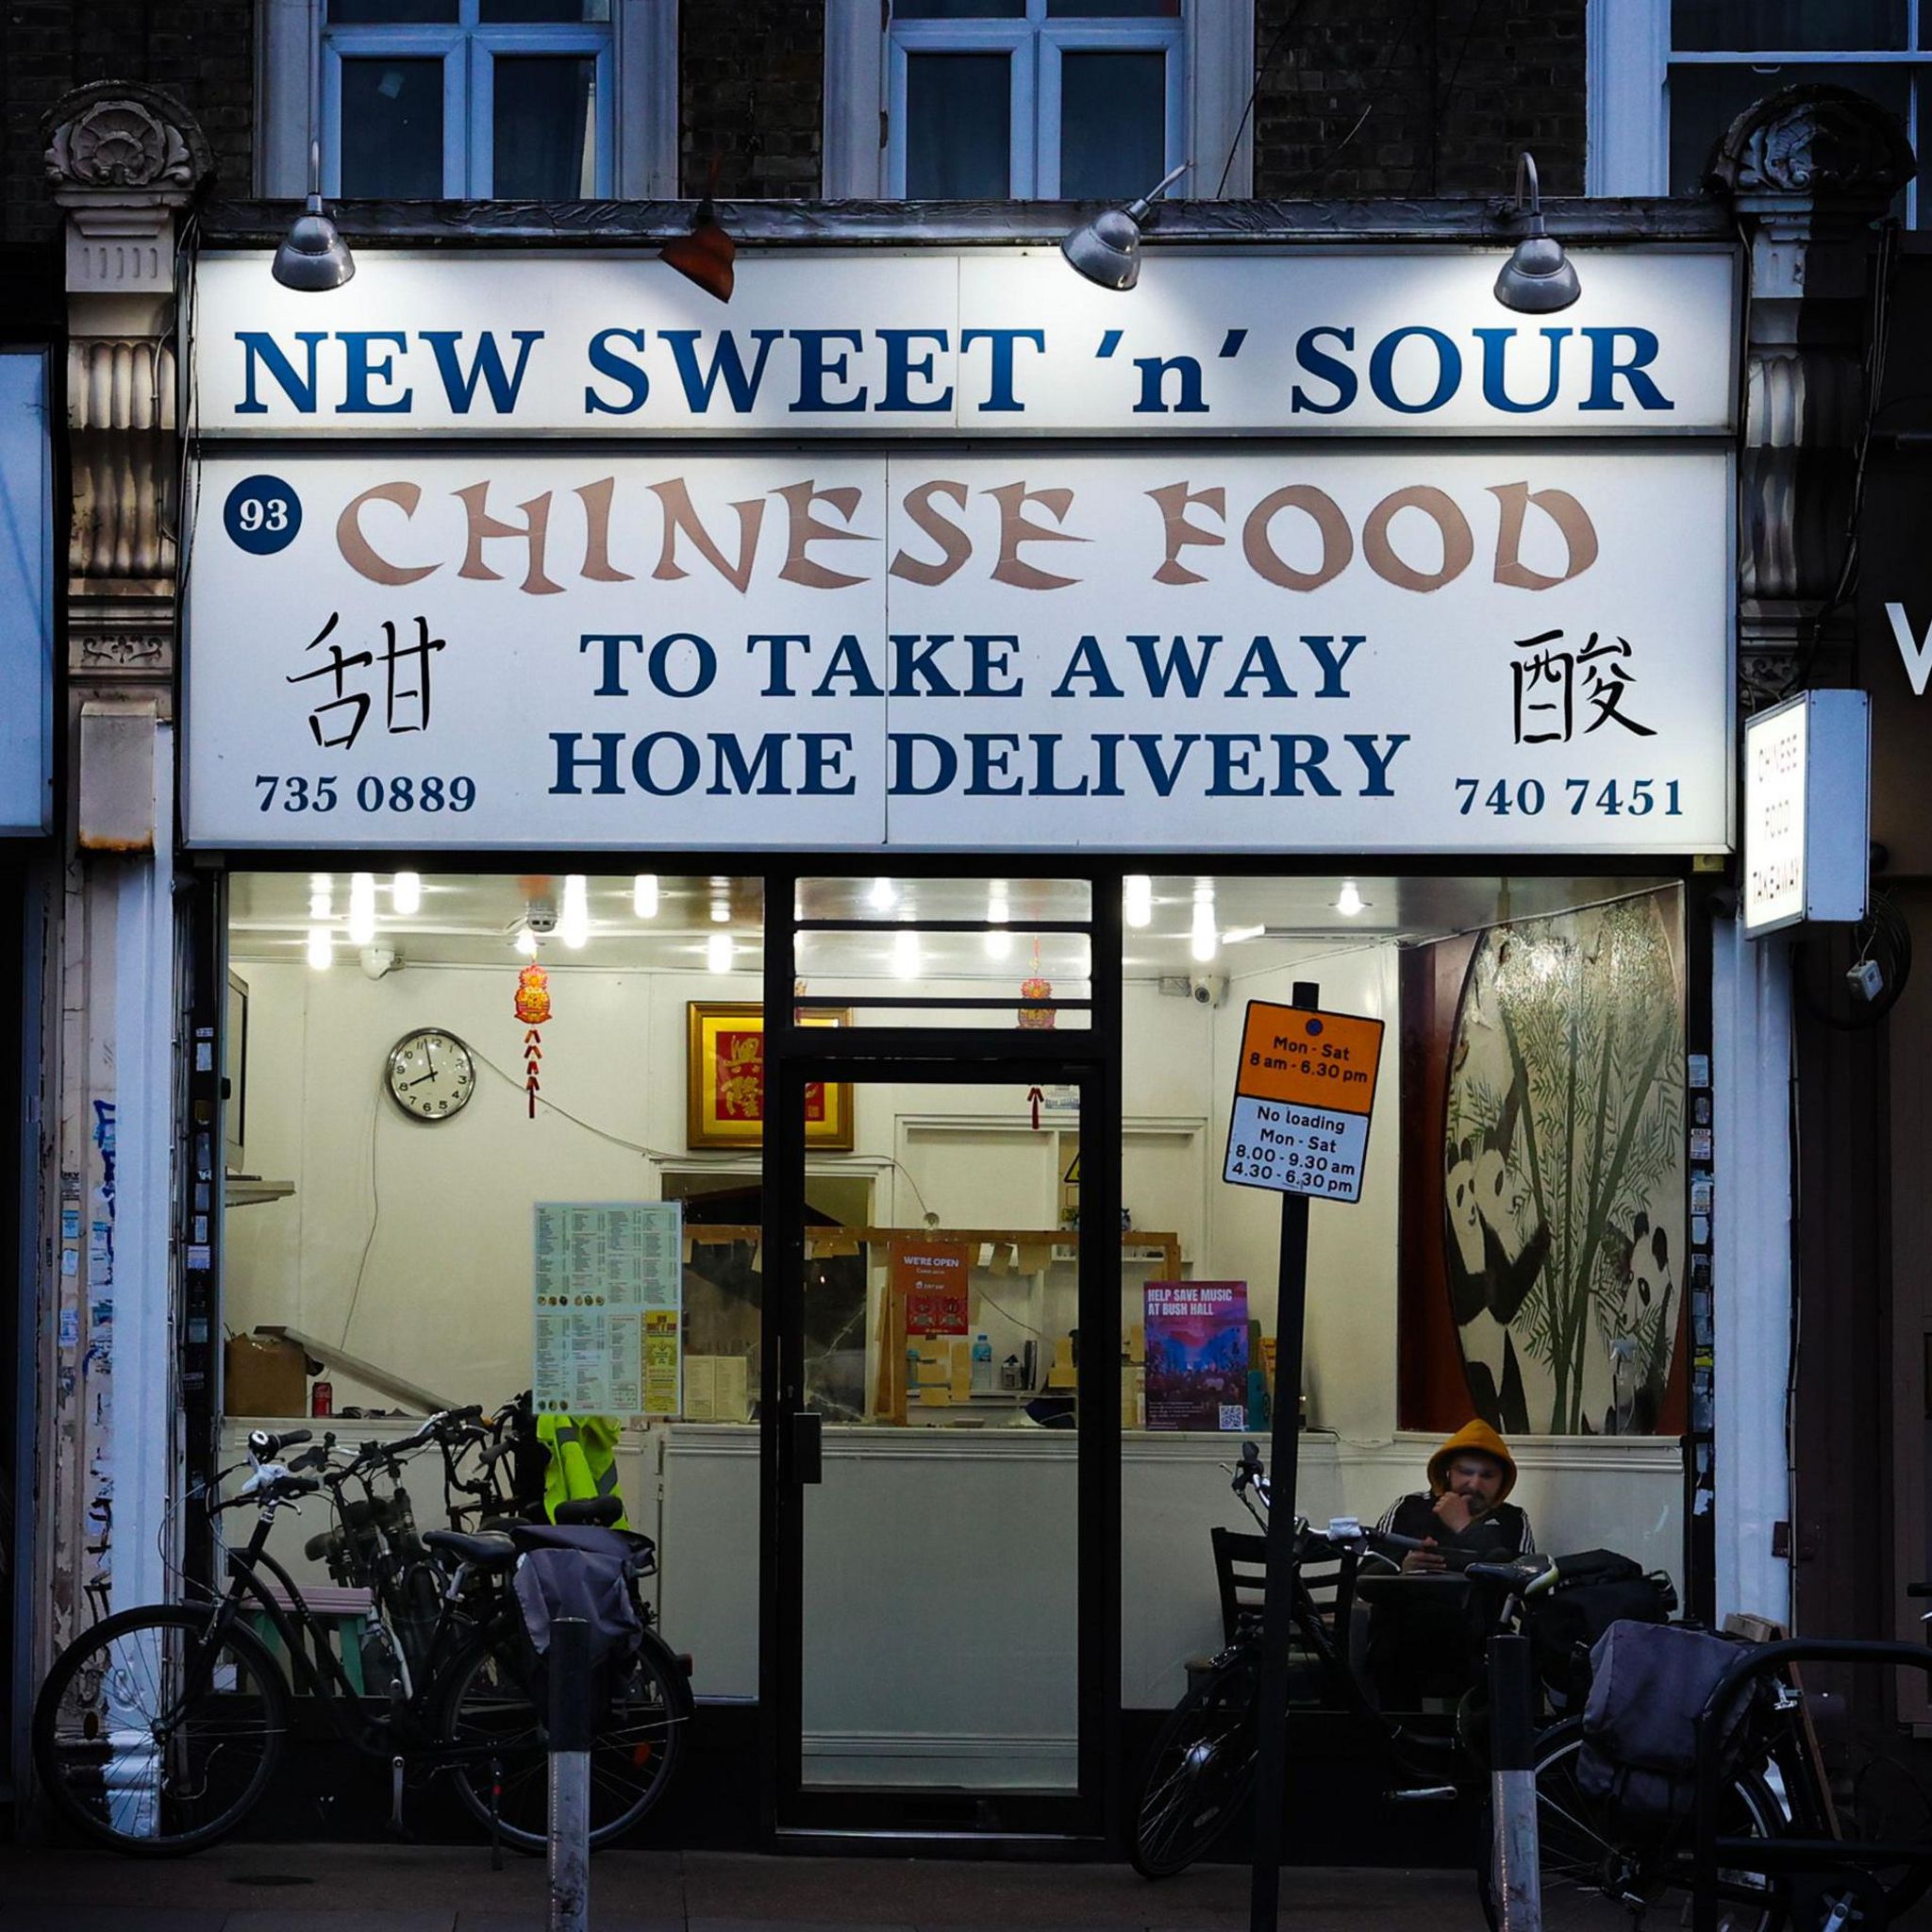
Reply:
<svg viewBox="0 0 1932 1932"><path fill-rule="evenodd" d="M893 195L1119 201L1184 156L1180 0L893 0L887 68Z"/></svg>

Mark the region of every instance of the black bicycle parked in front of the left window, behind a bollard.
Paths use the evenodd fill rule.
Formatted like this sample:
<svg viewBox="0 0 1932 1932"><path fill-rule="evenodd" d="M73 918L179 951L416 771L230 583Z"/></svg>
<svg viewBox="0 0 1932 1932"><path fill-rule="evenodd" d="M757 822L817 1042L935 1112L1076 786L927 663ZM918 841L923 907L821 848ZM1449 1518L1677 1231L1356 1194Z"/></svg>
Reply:
<svg viewBox="0 0 1932 1932"><path fill-rule="evenodd" d="M290 1727L290 1679L249 1623L261 1615L288 1656L294 1692L313 1698L354 1748L390 1762L398 1832L404 1774L413 1766L452 1774L458 1799L493 1843L543 1849L547 1727L508 1577L520 1549L547 1532L520 1524L508 1534L425 1530L415 1538L400 1530L406 1509L373 1488L431 1445L462 1455L489 1435L477 1418L479 1410L431 1416L400 1443L340 1453L344 1463L328 1463L338 1451L325 1445L323 1463L311 1461L321 1476L278 1461L311 1441L309 1430L255 1432L240 1492L216 1499L216 1486L242 1464L209 1486L213 1513L245 1505L257 1513L247 1544L228 1549L226 1590L207 1604L104 1617L48 1671L31 1743L54 1810L95 1843L137 1857L201 1851L234 1832L269 1789ZM357 1692L299 1586L267 1549L280 1513L299 1513L301 1499L323 1488L338 1524L332 1534L346 1548L361 1546L355 1575L373 1588L363 1658L379 1677L388 1673L383 1696ZM363 1499L348 1495L350 1488L361 1488ZM649 1540L607 1534L643 1573ZM431 1571L437 1598L425 1627L415 1613ZM632 1592L636 1600L634 1577ZM620 1837L663 1797L694 1708L686 1662L639 1621L638 1654L612 1681L595 1731L593 1845Z"/></svg>

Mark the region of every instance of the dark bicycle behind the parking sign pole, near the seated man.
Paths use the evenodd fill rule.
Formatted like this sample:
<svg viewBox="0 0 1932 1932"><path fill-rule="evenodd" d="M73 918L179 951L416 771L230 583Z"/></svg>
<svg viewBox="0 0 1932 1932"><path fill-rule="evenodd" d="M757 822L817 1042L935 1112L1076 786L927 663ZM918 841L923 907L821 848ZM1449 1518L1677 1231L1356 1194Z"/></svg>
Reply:
<svg viewBox="0 0 1932 1932"><path fill-rule="evenodd" d="M1227 1466L1227 1464L1223 1464ZM1242 1443L1235 1468L1235 1495L1262 1528L1267 1528L1269 1490L1254 1443ZM1337 1625L1345 1631L1354 1571L1364 1555L1420 1549L1412 1536L1368 1530L1354 1519L1335 1519L1327 1532L1294 1519L1291 1557L1291 1621L1302 1650L1314 1663L1323 1708L1339 1708L1374 1727L1399 1774L1420 1779L1410 1799L1453 1799L1484 1770L1486 1741L1480 1698L1464 1696L1441 1731L1418 1729L1378 1710L1356 1681L1343 1650L1327 1629L1302 1577L1304 1565L1341 1559ZM1546 1588L1542 1571L1517 1565L1480 1563L1443 1551L1466 1575L1499 1586L1493 1625L1507 1629L1528 1594ZM1555 1571L1549 1571L1553 1582ZM1262 1689L1262 1633L1258 1619L1235 1631L1161 1725L1148 1756L1140 1801L1134 1810L1130 1857L1142 1878L1171 1878L1213 1849L1221 1833L1246 1808L1254 1787L1260 1739L1254 1714Z"/></svg>

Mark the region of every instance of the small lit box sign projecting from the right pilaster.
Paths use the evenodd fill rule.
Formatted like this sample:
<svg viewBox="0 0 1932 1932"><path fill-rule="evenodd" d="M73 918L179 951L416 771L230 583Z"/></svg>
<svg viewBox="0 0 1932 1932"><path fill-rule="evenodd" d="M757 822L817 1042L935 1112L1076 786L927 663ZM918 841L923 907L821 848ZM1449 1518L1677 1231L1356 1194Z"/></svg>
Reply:
<svg viewBox="0 0 1932 1932"><path fill-rule="evenodd" d="M1872 705L1801 692L1745 721L1745 933L1862 920L1872 840Z"/></svg>

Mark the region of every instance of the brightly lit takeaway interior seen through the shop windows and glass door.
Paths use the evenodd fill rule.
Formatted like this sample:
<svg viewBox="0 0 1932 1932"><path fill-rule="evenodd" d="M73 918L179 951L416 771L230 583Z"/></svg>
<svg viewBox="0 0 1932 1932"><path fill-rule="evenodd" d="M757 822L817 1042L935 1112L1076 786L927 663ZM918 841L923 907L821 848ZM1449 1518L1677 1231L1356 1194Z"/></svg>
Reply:
<svg viewBox="0 0 1932 1932"><path fill-rule="evenodd" d="M1099 891L1122 893L1119 1231L1080 1219L1092 1146L1072 1088L808 1090L806 1389L827 1422L804 1584L808 1781L1074 1783L1076 1435L1055 1424L1072 1420L1084 1240L1119 1244L1119 1337L1101 1345L1121 1356L1122 1706L1173 1702L1186 1660L1217 1648L1208 1530L1246 1526L1219 1464L1265 1434L1262 1376L1223 1428L1163 1426L1148 1283L1240 1285L1264 1370L1279 1196L1221 1169L1246 1007L1289 1003L1296 981L1385 1022L1360 1202L1310 1213L1302 1513L1376 1517L1422 1484L1434 1437L1405 1430L1414 1391L1430 1374L1455 1385L1459 1349L1497 1389L1507 1364L1493 1316L1443 1316L1430 1341L1405 1339L1408 1310L1507 1275L1544 1240L1551 1269L1588 1279L1575 1325L1551 1308L1515 1329L1532 1410L1517 1499L1546 1546L1681 1571L1675 1434L1644 1406L1673 1368L1681 1304L1658 1254L1660 1231L1683 1252L1681 889L802 879L802 922L875 927L800 931L796 993L831 1003L802 1010L912 1024L929 999L952 1026L1090 1028L1090 939L1065 927ZM659 1542L665 1629L694 1650L699 1696L757 1692L761 1159L755 1124L730 1142L717 1105L742 1078L763 929L755 877L240 871L228 898L224 1323L296 1337L350 1439L400 1434L431 1401L495 1406L531 1385L537 1204L682 1202L676 1408L626 1416L620 1474ZM518 1010L531 966L547 981L537 1026ZM922 1005L866 1005L879 997ZM1551 1090L1559 1065L1609 1128L1573 1136L1573 1208L1548 1208L1536 1233L1524 1140L1540 1136L1536 1188L1557 1202L1551 1121L1577 1107ZM1656 1103L1646 1082L1662 1082ZM1638 1200L1665 1206L1638 1227ZM1592 1204L1596 1246L1567 1254ZM920 1246L960 1258L964 1302L945 1318L912 1298L902 1256ZM1650 1347L1660 1323L1662 1366L1633 1368L1613 1345ZM1418 1366L1426 1347L1447 1362ZM298 1379L290 1408L311 1399ZM234 1395L228 1416L230 1437L253 1422ZM889 1640L914 1627L941 1662Z"/></svg>

